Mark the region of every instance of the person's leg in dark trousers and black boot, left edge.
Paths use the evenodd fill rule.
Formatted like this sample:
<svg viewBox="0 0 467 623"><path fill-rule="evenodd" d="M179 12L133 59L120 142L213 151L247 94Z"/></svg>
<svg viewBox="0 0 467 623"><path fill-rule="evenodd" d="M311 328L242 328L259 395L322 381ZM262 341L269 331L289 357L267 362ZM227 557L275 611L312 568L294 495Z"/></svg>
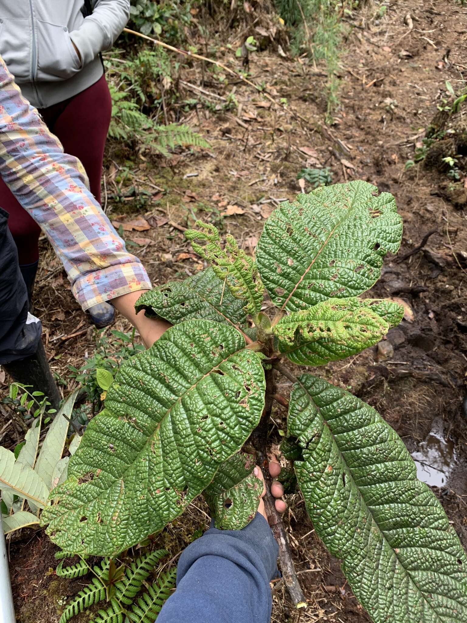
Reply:
<svg viewBox="0 0 467 623"><path fill-rule="evenodd" d="M26 284L7 221L0 208L0 364L14 381L44 392L57 409L60 392L40 341L40 321L28 312Z"/></svg>

